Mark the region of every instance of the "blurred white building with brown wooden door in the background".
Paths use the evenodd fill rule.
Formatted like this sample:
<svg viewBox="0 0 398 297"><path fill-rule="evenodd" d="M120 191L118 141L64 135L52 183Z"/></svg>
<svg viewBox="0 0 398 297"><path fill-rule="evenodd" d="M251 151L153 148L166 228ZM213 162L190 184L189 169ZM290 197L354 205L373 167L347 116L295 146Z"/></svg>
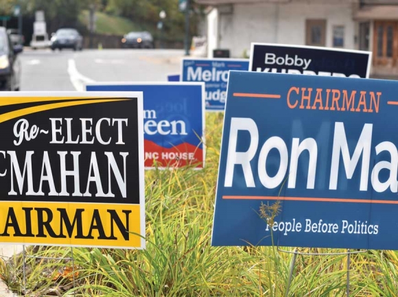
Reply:
<svg viewBox="0 0 398 297"><path fill-rule="evenodd" d="M208 5L207 55L247 56L251 42L373 51L373 74L398 74L398 1L197 0Z"/></svg>

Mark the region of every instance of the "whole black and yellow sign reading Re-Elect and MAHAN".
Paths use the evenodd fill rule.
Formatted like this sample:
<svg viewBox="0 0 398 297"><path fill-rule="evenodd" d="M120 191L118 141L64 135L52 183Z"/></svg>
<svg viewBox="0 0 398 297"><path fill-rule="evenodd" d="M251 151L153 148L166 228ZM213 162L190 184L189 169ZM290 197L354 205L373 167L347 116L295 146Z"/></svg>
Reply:
<svg viewBox="0 0 398 297"><path fill-rule="evenodd" d="M0 242L145 248L142 100L0 94Z"/></svg>

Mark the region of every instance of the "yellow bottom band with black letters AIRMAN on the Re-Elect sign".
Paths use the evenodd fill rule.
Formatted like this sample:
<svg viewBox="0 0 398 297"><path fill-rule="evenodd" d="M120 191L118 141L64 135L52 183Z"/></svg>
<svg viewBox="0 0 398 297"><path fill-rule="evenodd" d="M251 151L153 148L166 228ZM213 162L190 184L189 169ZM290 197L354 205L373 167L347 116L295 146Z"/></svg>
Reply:
<svg viewBox="0 0 398 297"><path fill-rule="evenodd" d="M53 204L47 203L43 207L44 203L27 202L21 207L20 203L12 204L16 205L1 207L0 211L0 237L10 237L9 242L25 242L30 237L35 237L35 242L40 238L48 242L51 238L60 244L73 239L81 245L87 245L84 242L90 239L106 241L107 246L139 242L139 237L133 234L139 233L137 205L65 203L60 207L60 203L54 203L51 207Z"/></svg>

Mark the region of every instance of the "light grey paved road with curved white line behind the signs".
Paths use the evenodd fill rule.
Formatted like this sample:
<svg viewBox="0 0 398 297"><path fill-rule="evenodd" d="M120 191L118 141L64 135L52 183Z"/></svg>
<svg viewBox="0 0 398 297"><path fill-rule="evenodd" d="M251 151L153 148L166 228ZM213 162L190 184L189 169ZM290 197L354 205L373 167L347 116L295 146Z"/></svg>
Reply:
<svg viewBox="0 0 398 297"><path fill-rule="evenodd" d="M168 73L180 72L183 55L182 50L159 49L25 50L20 56L21 91L84 91L84 84L93 81L165 82ZM0 256L21 250L0 245Z"/></svg>

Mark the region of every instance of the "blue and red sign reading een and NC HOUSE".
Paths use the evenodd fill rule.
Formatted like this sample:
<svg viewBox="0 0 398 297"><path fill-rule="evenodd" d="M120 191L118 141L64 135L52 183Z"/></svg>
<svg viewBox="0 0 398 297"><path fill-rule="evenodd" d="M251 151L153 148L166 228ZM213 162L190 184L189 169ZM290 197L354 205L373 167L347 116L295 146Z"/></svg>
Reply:
<svg viewBox="0 0 398 297"><path fill-rule="evenodd" d="M86 91L142 91L145 168L204 167L202 82L97 82Z"/></svg>

